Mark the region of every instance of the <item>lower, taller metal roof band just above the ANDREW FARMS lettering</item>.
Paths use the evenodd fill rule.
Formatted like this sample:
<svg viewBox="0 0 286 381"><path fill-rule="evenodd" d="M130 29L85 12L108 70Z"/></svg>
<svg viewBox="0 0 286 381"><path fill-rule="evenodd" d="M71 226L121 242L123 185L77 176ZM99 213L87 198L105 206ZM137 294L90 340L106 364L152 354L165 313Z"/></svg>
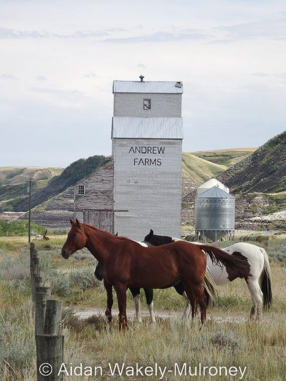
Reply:
<svg viewBox="0 0 286 381"><path fill-rule="evenodd" d="M183 139L183 119L113 117L111 138Z"/></svg>

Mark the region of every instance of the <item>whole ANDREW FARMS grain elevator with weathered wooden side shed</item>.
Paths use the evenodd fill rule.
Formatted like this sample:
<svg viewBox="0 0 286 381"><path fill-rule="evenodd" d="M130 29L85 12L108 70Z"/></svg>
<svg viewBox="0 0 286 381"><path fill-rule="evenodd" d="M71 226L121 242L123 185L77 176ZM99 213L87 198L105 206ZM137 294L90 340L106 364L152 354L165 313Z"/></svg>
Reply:
<svg viewBox="0 0 286 381"><path fill-rule="evenodd" d="M114 81L112 160L74 188L74 213L135 240L180 237L182 82Z"/></svg>

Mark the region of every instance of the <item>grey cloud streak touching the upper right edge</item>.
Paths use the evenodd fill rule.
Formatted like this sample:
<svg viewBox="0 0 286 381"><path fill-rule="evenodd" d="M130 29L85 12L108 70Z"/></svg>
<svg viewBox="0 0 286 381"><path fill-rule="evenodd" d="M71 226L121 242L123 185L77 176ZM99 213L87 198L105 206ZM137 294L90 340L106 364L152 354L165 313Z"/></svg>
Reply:
<svg viewBox="0 0 286 381"><path fill-rule="evenodd" d="M286 16L274 20L260 20L244 24L220 26L216 30L228 33L230 39L269 38L286 40Z"/></svg>

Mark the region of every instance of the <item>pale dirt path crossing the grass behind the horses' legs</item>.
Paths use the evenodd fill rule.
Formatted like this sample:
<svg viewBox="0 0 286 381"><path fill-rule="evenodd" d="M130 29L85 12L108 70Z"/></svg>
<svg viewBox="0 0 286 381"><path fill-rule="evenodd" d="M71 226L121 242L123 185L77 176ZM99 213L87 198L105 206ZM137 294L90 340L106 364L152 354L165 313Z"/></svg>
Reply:
<svg viewBox="0 0 286 381"><path fill-rule="evenodd" d="M135 310L127 310L128 318L131 320L135 319ZM86 319L91 316L98 316L103 317L104 316L104 309L103 308L93 308L93 309L84 309L84 310L75 310L75 316L81 319ZM114 308L112 309L112 315L114 318L118 315L118 309ZM143 318L149 317L149 312L147 310L142 310L141 315ZM180 319L182 316L181 312L177 311L154 311L155 318L175 318ZM230 323L243 323L247 321L247 318L241 317L241 316L216 316L214 314L209 314L208 320L214 320L216 322L230 322Z"/></svg>

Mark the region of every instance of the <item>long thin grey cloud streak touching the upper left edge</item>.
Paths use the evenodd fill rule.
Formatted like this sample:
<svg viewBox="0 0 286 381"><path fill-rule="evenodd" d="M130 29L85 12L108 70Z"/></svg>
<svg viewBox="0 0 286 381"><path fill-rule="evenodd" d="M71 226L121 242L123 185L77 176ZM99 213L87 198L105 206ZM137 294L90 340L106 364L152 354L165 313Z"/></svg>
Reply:
<svg viewBox="0 0 286 381"><path fill-rule="evenodd" d="M46 30L23 31L17 29L0 28L0 39L22 39L22 38L88 38L108 36L105 31L76 31L70 34L50 33Z"/></svg>

